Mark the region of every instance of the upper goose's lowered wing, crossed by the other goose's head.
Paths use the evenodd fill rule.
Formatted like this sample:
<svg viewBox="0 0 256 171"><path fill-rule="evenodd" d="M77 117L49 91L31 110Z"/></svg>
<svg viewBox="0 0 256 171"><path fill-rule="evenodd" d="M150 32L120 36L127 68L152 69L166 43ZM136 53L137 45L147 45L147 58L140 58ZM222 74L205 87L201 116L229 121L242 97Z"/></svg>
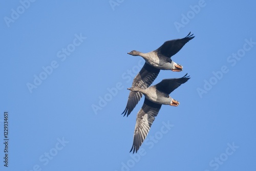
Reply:
<svg viewBox="0 0 256 171"><path fill-rule="evenodd" d="M156 69L148 65L147 63L145 63L142 69L140 70L140 72L134 78L132 86L143 88L143 89L148 88L152 84L152 82L156 79L159 72L160 72L159 69ZM126 107L122 113L124 114L123 116L125 116L126 114L127 116L131 114L135 106L140 101L141 97L142 97L142 93L130 91Z"/></svg>

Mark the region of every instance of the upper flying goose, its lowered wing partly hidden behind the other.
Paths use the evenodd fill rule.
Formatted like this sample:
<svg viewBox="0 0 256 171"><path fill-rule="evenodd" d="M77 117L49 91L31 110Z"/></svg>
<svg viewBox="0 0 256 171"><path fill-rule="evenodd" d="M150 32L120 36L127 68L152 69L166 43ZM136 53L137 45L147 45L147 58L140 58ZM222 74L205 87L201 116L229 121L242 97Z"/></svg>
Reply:
<svg viewBox="0 0 256 171"><path fill-rule="evenodd" d="M190 35L190 33L191 32L181 39L165 41L157 50L149 53L141 53L135 50L129 52L128 54L130 55L142 56L145 59L145 64L140 72L135 76L132 87L139 87L143 89L148 88L156 79L160 70L172 70L176 72L182 71L183 67L172 61L170 57L179 52L189 40L195 37L193 34ZM124 114L123 116L129 116L131 114L141 97L141 92L130 91L126 107L122 113Z"/></svg>

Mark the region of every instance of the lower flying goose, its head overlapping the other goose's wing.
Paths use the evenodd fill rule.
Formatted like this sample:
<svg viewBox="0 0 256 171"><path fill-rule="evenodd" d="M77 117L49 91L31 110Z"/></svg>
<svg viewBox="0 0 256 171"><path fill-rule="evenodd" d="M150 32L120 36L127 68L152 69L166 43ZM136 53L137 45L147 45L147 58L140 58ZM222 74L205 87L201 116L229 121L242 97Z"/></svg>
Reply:
<svg viewBox="0 0 256 171"><path fill-rule="evenodd" d="M133 92L141 92L145 99L142 108L139 110L136 118L136 125L133 136L133 146L130 152L137 153L144 139L146 138L150 127L155 120L162 104L178 106L179 101L169 96L181 84L185 83L189 76L184 75L181 78L163 79L155 86L146 89L139 87L131 87L127 90Z"/></svg>

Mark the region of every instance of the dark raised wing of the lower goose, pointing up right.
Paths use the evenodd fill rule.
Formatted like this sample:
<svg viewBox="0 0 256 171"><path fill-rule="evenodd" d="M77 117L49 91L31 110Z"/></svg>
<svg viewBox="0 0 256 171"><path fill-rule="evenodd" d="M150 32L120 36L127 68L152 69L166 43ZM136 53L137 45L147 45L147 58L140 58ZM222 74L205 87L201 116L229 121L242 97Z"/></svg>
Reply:
<svg viewBox="0 0 256 171"><path fill-rule="evenodd" d="M181 84L185 83L188 79L189 76L187 76L187 74L181 78L163 79L161 82L159 82L153 87L155 87L157 90L161 92L170 94L175 89L177 89Z"/></svg>

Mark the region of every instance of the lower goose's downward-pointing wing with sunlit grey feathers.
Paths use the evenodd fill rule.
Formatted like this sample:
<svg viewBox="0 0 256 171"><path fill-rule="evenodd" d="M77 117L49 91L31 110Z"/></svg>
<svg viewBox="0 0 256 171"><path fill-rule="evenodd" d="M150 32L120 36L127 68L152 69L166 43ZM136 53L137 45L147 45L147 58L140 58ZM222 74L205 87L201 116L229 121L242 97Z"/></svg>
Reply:
<svg viewBox="0 0 256 171"><path fill-rule="evenodd" d="M155 120L162 104L156 104L145 98L142 108L137 114L136 125L133 136L133 146L130 152L137 153L150 127Z"/></svg>

